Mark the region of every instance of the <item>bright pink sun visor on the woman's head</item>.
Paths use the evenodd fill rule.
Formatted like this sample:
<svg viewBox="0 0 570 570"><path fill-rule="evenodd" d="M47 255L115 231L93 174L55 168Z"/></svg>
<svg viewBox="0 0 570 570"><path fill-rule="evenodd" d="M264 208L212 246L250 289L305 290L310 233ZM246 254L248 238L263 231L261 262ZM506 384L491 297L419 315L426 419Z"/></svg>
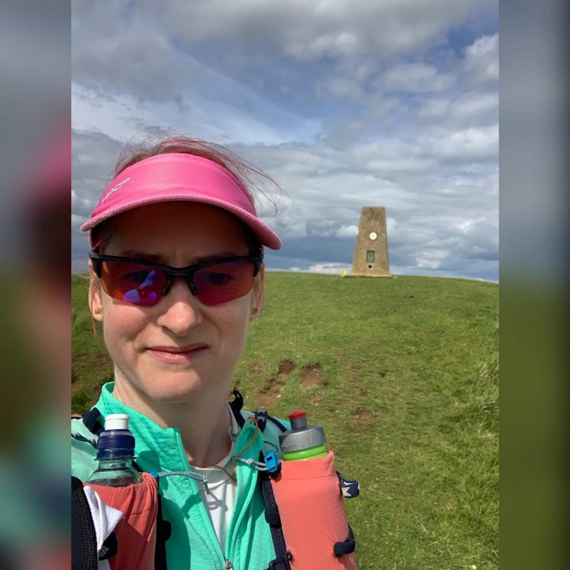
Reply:
<svg viewBox="0 0 570 570"><path fill-rule="evenodd" d="M261 245L281 248L281 239L257 217L252 199L231 172L207 158L180 152L145 158L125 168L110 182L81 229L88 232L139 206L177 200L226 209L252 230Z"/></svg>

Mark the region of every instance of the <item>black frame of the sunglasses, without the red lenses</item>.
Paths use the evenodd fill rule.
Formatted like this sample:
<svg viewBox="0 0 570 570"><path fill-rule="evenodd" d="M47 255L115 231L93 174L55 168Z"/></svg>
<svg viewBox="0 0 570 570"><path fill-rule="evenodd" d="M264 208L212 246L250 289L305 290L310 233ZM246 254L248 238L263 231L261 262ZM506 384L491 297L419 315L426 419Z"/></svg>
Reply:
<svg viewBox="0 0 570 570"><path fill-rule="evenodd" d="M101 263L103 261L127 261L130 263L145 265L147 267L151 267L152 269L159 269L166 276L165 286L162 287L162 296L165 296L168 293L168 291L170 291L170 287L172 286L172 281L175 279L175 277L183 277L186 280L188 286L190 287L192 295L197 296L199 299L198 291L196 289L194 281L192 281L192 277L194 276L195 272L198 271L198 269L203 269L204 267L209 267L212 265L218 265L222 263L229 263L231 261L253 261L254 278L255 278L257 274L259 274L259 271L261 269L261 264L263 263L263 252L260 251L259 254L257 255L250 254L250 255L241 255L237 257L218 257L216 259L201 261L200 263L188 265L186 267L172 267L170 265L155 263L154 261L147 261L146 259L141 259L140 257L123 257L120 255L100 254L97 248L93 248L89 252L89 259L91 260L91 263L93 265L93 271L95 271L95 275L98 276L99 278L101 277L101 272L102 272Z"/></svg>

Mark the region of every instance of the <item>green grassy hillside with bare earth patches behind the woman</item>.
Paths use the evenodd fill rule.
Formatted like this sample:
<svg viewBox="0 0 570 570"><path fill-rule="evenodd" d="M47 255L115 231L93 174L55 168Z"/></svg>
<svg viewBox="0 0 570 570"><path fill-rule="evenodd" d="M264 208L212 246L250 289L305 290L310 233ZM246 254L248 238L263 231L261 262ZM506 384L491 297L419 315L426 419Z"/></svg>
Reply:
<svg viewBox="0 0 570 570"><path fill-rule="evenodd" d="M113 369L72 279L82 411ZM497 354L497 284L269 272L234 379L248 409L305 408L361 482L360 570L497 569Z"/></svg>

